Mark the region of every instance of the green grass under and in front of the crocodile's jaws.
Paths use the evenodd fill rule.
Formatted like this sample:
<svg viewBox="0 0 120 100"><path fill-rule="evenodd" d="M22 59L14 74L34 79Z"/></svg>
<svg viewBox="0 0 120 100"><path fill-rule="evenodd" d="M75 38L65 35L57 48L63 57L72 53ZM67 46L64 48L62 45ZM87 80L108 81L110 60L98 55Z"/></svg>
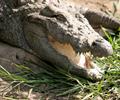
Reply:
<svg viewBox="0 0 120 100"><path fill-rule="evenodd" d="M36 92L53 93L56 96L72 95L80 100L96 100L98 97L103 100L118 100L120 99L120 34L111 37L105 30L104 33L112 44L114 53L109 57L95 59L95 62L106 70L103 79L99 82L90 82L60 68L51 67L51 71L43 70L36 74L22 65L16 65L22 69L22 72L17 74L9 73L0 66L0 76L13 81L11 85L14 88L23 84ZM38 88L40 86L43 86L44 89Z"/></svg>

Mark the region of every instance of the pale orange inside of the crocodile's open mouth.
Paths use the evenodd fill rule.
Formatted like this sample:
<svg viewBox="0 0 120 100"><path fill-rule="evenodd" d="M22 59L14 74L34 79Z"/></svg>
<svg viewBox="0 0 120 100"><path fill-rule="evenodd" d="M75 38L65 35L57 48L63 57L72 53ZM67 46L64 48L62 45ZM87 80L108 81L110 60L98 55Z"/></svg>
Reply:
<svg viewBox="0 0 120 100"><path fill-rule="evenodd" d="M66 56L73 64L83 67L85 69L91 69L94 67L93 55L90 52L76 53L73 47L67 43L60 43L52 36L48 36L50 45L61 55Z"/></svg>

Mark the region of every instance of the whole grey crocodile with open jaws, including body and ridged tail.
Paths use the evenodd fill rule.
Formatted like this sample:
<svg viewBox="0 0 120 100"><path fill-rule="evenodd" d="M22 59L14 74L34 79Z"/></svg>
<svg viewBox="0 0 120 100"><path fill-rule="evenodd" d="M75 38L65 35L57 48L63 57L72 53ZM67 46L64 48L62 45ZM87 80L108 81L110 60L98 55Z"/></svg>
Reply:
<svg viewBox="0 0 120 100"><path fill-rule="evenodd" d="M111 44L93 26L116 30L120 21L65 0L0 0L0 41L70 73L100 80L92 57L109 56Z"/></svg>

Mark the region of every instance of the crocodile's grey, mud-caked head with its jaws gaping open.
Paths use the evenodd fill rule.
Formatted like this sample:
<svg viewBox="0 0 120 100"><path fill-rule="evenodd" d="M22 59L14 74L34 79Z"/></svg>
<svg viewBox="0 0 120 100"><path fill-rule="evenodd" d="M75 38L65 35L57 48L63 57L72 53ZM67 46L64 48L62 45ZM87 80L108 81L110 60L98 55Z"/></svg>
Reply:
<svg viewBox="0 0 120 100"><path fill-rule="evenodd" d="M42 59L80 76L101 79L102 71L91 55L108 56L112 46L83 15L47 6L40 13L29 14L24 28L29 46Z"/></svg>

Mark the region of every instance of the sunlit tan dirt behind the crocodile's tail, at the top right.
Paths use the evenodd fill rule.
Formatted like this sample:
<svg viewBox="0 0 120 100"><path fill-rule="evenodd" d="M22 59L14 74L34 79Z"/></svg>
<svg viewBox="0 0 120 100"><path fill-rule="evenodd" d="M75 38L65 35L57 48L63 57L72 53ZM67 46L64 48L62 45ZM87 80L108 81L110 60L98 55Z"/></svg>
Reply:
<svg viewBox="0 0 120 100"><path fill-rule="evenodd" d="M117 17L120 15L120 0L68 0L77 5L87 7L89 9L103 11L107 14L114 13ZM116 8L114 8L114 4Z"/></svg>

